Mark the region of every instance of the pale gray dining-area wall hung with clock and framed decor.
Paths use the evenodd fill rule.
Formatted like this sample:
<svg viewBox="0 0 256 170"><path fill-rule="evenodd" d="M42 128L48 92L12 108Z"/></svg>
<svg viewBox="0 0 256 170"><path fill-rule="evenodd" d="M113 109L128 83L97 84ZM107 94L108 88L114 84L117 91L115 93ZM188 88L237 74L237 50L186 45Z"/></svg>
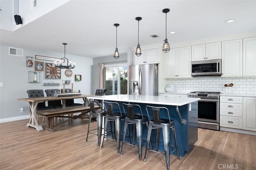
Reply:
<svg viewBox="0 0 256 170"><path fill-rule="evenodd" d="M55 53L51 51L38 51L34 49L24 49L23 57L8 55L8 48L13 47L6 44L0 46L0 82L3 83L3 87L0 87L0 122L1 119L22 117L29 115L28 102L18 101L18 98L27 98L28 89L53 89L60 88L59 86L43 86L43 83L49 83L52 79L45 79L45 66L42 72L41 83L28 83L28 71L34 71L33 67L26 67L26 56L33 57L33 63L35 55L42 55L48 57L62 58L64 53ZM20 47L14 47L20 48ZM22 48L20 48L22 49ZM82 94L91 94L91 66L92 59L87 57L68 55L68 59L76 61L76 67L72 69L73 75L66 77L65 80L73 80L74 88L80 90ZM45 63L51 63L50 61L43 61ZM65 69L62 69L61 79L63 79ZM75 82L74 75L81 74L82 81ZM61 83L62 80L54 80L56 83ZM71 85L66 85L65 88L71 88ZM95 92L94 92L95 93ZM46 96L46 93L44 93ZM75 102L83 102L82 99L77 99ZM24 108L24 112L20 113L20 108Z"/></svg>

